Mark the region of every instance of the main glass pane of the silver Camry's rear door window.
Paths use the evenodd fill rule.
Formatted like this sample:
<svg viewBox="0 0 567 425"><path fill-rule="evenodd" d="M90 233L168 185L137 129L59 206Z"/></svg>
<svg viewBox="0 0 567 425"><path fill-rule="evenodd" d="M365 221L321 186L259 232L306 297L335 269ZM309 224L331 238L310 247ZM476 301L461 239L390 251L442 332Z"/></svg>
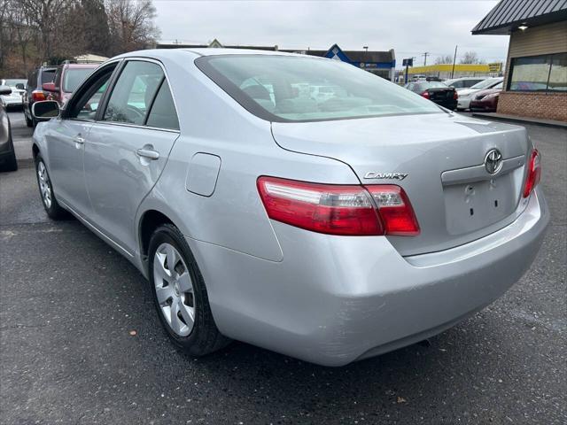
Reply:
<svg viewBox="0 0 567 425"><path fill-rule="evenodd" d="M152 62L128 61L106 106L106 121L144 125L164 73Z"/></svg>

